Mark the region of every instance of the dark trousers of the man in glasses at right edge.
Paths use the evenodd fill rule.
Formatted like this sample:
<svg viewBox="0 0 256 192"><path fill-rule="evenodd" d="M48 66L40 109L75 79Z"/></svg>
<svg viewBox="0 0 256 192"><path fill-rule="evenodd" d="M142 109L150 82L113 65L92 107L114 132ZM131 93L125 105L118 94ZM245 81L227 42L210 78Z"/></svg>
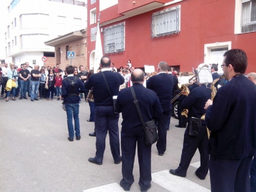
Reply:
<svg viewBox="0 0 256 192"><path fill-rule="evenodd" d="M234 160L210 157L211 192L251 192L251 162L252 156Z"/></svg>

